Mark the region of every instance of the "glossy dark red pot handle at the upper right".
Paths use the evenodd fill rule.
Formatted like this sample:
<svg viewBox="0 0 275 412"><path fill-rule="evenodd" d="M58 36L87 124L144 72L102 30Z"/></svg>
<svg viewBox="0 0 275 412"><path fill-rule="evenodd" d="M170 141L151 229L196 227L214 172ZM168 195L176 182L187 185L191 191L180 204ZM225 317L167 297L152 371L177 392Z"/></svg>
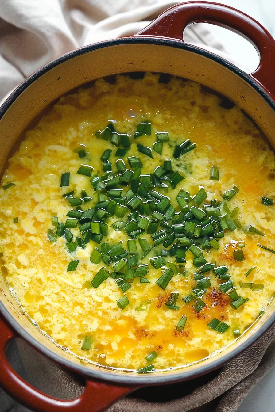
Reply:
<svg viewBox="0 0 275 412"><path fill-rule="evenodd" d="M183 30L193 23L212 23L227 28L253 44L260 63L250 77L275 100L275 63L272 58L275 40L260 23L233 7L204 1L181 3L170 7L135 36L183 42Z"/></svg>

